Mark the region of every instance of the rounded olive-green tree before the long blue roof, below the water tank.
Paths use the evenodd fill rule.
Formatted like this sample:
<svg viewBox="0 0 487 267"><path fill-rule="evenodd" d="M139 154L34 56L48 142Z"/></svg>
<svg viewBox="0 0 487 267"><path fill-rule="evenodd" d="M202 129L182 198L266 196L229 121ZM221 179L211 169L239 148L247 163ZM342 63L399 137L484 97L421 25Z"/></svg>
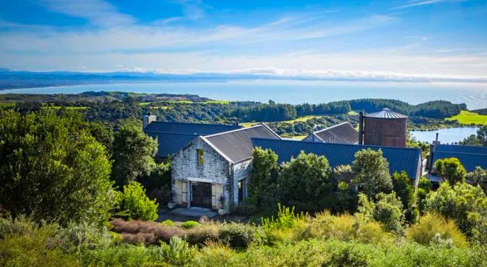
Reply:
<svg viewBox="0 0 487 267"><path fill-rule="evenodd" d="M367 148L358 151L352 163L352 171L354 173L352 184L360 185L368 197L392 189L389 162L385 160L380 149Z"/></svg>

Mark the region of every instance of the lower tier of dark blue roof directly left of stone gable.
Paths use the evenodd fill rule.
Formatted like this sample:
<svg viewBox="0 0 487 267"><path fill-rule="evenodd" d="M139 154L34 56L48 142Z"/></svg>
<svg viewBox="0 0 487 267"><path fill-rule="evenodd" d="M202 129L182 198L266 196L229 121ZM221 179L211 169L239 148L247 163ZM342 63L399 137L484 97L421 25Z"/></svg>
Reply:
<svg viewBox="0 0 487 267"><path fill-rule="evenodd" d="M147 132L147 135L152 138L157 137L157 142L159 143L157 146L157 157L169 157L198 137L198 135L164 132Z"/></svg>

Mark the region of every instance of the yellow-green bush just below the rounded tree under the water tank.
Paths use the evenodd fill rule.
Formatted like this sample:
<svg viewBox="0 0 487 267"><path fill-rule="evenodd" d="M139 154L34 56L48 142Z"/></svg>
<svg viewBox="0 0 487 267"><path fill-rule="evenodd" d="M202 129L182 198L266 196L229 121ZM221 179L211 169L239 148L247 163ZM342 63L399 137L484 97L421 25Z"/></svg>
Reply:
<svg viewBox="0 0 487 267"><path fill-rule="evenodd" d="M365 221L375 220L382 223L385 230L400 233L404 230L404 211L401 200L396 193L378 193L376 202L367 195L358 195L358 214L359 218Z"/></svg>

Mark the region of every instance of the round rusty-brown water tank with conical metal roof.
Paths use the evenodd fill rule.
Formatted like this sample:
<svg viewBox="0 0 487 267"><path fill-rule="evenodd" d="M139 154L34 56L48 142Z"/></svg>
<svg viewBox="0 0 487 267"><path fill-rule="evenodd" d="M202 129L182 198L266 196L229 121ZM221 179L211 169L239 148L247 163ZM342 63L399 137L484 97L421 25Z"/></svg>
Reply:
<svg viewBox="0 0 487 267"><path fill-rule="evenodd" d="M373 146L406 146L408 117L388 108L364 114L362 123L363 144Z"/></svg>

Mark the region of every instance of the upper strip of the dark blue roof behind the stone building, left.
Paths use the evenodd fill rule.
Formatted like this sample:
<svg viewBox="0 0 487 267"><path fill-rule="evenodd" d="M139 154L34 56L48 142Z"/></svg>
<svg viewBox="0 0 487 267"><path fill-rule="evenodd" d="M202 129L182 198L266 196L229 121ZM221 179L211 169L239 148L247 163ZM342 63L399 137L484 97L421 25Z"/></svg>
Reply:
<svg viewBox="0 0 487 267"><path fill-rule="evenodd" d="M166 122L152 121L144 132L170 132L184 133L191 135L212 135L218 132L227 132L229 130L240 129L242 126L225 125L225 124L205 124L205 123L184 123L184 122Z"/></svg>

